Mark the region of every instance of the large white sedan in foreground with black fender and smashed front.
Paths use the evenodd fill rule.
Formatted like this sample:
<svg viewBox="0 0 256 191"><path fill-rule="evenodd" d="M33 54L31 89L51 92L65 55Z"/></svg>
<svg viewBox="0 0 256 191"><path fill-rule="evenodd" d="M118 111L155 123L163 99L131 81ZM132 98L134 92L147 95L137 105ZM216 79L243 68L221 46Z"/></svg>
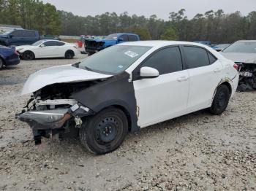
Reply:
<svg viewBox="0 0 256 191"><path fill-rule="evenodd" d="M77 128L83 145L104 154L129 131L200 109L222 114L236 92L236 68L203 44L122 43L32 74L22 92L32 98L17 117L31 126L36 144Z"/></svg>

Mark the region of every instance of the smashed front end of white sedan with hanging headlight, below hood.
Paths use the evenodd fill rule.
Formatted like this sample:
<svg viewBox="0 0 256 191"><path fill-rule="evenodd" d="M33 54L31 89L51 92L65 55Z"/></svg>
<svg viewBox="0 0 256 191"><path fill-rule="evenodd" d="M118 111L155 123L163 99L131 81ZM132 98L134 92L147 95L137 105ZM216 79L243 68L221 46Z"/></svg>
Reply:
<svg viewBox="0 0 256 191"><path fill-rule="evenodd" d="M94 85L94 82L55 84L37 90L26 107L16 118L28 123L34 134L35 144L41 144L42 137L69 132L80 128L82 117L94 114L83 104L71 98L72 93Z"/></svg>

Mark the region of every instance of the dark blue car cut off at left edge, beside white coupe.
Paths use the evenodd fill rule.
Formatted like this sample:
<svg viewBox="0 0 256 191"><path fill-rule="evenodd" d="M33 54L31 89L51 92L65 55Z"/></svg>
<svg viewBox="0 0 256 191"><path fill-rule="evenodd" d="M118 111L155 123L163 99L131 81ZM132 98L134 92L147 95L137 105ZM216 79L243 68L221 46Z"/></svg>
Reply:
<svg viewBox="0 0 256 191"><path fill-rule="evenodd" d="M15 48L0 45L0 69L4 66L13 66L18 63L20 63L20 58Z"/></svg>

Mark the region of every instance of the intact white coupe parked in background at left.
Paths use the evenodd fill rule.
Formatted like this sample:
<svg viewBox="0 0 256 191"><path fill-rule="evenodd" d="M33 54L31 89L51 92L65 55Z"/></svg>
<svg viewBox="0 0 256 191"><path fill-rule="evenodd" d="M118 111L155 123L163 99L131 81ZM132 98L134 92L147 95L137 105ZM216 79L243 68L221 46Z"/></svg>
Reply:
<svg viewBox="0 0 256 191"><path fill-rule="evenodd" d="M16 50L26 61L31 61L34 58L72 59L78 53L75 45L59 40L39 40L31 45L18 46Z"/></svg>

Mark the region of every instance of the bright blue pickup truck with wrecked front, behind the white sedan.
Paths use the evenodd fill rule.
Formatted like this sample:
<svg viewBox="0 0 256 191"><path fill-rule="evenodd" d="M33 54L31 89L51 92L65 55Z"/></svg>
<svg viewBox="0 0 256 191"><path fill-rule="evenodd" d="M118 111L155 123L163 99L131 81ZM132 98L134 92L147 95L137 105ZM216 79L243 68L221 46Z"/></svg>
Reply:
<svg viewBox="0 0 256 191"><path fill-rule="evenodd" d="M139 41L140 36L137 34L110 34L104 39L86 39L85 48L88 55L92 55L95 52L99 52L107 47L111 47L115 44L122 42L134 42Z"/></svg>

